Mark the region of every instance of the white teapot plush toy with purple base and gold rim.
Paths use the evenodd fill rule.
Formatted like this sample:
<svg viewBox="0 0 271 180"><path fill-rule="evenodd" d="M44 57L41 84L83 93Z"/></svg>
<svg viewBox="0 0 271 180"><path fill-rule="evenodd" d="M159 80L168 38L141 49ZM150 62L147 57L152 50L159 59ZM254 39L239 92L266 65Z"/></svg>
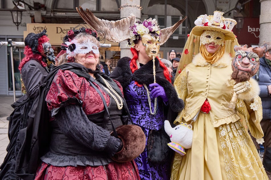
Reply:
<svg viewBox="0 0 271 180"><path fill-rule="evenodd" d="M176 127L171 127L170 122L165 120L165 131L170 137L168 146L182 156L186 154L184 149L192 147L193 130L192 126L182 122Z"/></svg>

